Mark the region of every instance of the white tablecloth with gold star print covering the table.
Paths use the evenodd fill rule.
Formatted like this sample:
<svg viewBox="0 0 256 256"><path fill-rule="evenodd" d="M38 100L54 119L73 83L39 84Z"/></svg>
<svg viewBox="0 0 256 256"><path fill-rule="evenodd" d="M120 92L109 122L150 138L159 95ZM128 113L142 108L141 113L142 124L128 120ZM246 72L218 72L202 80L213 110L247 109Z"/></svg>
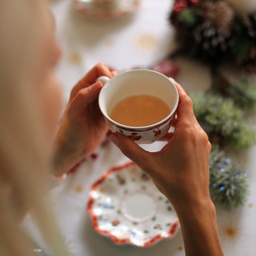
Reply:
<svg viewBox="0 0 256 256"><path fill-rule="evenodd" d="M148 67L165 58L172 49L173 28L168 15L171 0L142 0L139 9L117 20L101 22L83 17L72 9L70 0L52 0L56 30L64 55L58 67L64 100L70 89L97 62L106 62L117 70ZM206 66L186 58L177 59L181 72L177 77L187 92L205 90L210 86ZM163 143L144 146L156 151ZM224 255L256 255L256 147L248 150L241 163L249 174L250 195L244 207L226 211L217 207L217 221ZM88 192L92 183L108 168L129 161L111 143L101 147L51 192L59 225L66 237L66 246L77 256L162 256L185 255L181 231L173 239L139 248L116 245L108 237L96 233L87 213ZM30 220L27 226L40 244ZM209 230L211 232L211 230ZM207 256L207 255L206 255Z"/></svg>

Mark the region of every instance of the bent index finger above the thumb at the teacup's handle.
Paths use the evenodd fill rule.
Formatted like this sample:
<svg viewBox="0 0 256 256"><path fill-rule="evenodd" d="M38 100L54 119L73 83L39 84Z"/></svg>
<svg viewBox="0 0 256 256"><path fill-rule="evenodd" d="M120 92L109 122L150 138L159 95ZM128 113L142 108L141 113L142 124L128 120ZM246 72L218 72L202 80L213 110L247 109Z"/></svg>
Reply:
<svg viewBox="0 0 256 256"><path fill-rule="evenodd" d="M92 85L92 83L95 83L96 79L101 75L112 78L114 76L112 72L103 62L96 64L96 66L94 66L72 89L70 100L72 100L82 88L86 88Z"/></svg>

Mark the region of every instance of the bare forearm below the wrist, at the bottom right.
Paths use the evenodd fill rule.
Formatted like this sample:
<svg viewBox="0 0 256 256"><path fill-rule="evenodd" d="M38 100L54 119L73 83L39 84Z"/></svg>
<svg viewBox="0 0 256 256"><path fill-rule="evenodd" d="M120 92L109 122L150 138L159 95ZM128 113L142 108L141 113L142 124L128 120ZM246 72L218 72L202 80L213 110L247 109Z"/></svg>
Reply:
<svg viewBox="0 0 256 256"><path fill-rule="evenodd" d="M223 251L211 200L177 211L187 256L221 256Z"/></svg>

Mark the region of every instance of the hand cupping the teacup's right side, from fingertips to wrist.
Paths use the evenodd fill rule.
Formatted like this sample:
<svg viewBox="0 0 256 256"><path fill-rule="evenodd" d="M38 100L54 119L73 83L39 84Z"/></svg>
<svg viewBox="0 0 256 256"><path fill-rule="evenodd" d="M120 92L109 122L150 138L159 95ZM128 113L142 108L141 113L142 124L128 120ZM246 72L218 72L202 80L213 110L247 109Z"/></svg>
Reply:
<svg viewBox="0 0 256 256"><path fill-rule="evenodd" d="M192 100L181 85L176 83L176 87L179 92L176 126L161 151L145 151L121 134L113 134L109 139L148 173L179 211L185 203L210 202L208 162L211 145L195 119Z"/></svg>

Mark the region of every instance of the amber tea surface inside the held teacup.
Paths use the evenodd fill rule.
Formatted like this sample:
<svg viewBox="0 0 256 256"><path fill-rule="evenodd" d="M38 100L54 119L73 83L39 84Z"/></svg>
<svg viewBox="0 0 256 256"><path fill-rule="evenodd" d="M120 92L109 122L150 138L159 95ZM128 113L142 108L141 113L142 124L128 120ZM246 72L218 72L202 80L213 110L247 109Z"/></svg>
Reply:
<svg viewBox="0 0 256 256"><path fill-rule="evenodd" d="M150 126L163 120L171 112L160 98L134 95L119 101L110 113L111 119L125 126Z"/></svg>

